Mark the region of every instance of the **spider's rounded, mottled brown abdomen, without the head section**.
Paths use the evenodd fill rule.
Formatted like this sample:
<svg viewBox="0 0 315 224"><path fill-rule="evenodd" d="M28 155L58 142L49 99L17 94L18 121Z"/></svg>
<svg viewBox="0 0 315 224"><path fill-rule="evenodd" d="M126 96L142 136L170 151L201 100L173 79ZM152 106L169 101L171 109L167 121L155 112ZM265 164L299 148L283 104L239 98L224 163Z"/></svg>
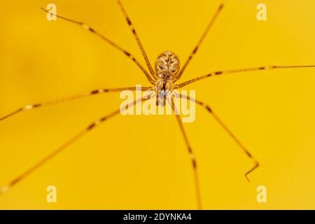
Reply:
<svg viewBox="0 0 315 224"><path fill-rule="evenodd" d="M179 74L179 57L174 52L165 51L155 61L155 72L159 78L174 80Z"/></svg>

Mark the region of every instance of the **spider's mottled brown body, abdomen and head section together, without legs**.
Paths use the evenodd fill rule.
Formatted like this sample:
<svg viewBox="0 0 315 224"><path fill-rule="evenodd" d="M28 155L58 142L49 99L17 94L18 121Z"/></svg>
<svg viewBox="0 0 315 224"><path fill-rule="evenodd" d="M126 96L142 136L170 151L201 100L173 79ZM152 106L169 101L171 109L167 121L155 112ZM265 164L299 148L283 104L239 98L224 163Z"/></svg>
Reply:
<svg viewBox="0 0 315 224"><path fill-rule="evenodd" d="M166 51L159 55L155 61L155 73L158 79L155 82L157 92L157 105L165 105L167 95L174 90L174 80L179 74L179 57L174 52Z"/></svg>

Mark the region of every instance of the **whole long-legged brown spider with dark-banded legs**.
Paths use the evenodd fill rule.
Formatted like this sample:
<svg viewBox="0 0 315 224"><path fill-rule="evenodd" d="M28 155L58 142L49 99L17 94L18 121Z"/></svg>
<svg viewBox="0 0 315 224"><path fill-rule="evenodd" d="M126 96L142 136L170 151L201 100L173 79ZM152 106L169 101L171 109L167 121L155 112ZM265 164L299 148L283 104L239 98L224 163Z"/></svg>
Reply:
<svg viewBox="0 0 315 224"><path fill-rule="evenodd" d="M151 83L151 86L142 87L141 91L151 90L151 94L148 94L144 97L136 99L134 102L127 104L127 106L125 106L125 108L123 108L123 109L127 109L128 107L134 106L135 104L139 104L145 100L153 99L154 97L156 97L156 104L158 106L165 106L166 97L160 97L161 92L165 96L165 93L167 93L167 94L172 93L173 90L180 89L181 87L185 87L186 85L189 85L191 83L195 83L197 81L200 81L200 80L203 80L205 78L212 77L212 76L221 76L221 75L224 75L227 73L241 73L241 72L248 72L248 71L263 71L263 70L271 70L271 69L293 69L293 68L315 67L315 65L302 65L302 66L271 65L271 66L258 66L258 67L252 67L252 68L246 68L246 69L222 70L222 71L214 71L214 72L208 73L204 76L199 76L197 78L193 78L191 80L188 80L184 83L177 84L176 82L181 78L184 71L186 70L186 67L188 66L190 61L193 59L193 57L196 55L198 49L200 48L200 45L202 44L202 42L204 41L204 38L209 33L209 30L211 29L212 25L214 25L214 22L216 21L216 19L220 15L225 4L221 3L220 6L218 6L216 13L211 18L207 28L204 30L204 32L200 38L200 41L197 42L197 45L195 45L195 48L193 48L188 59L186 60L186 62L183 64L182 67L180 67L179 57L177 57L174 52L165 51L165 52L162 52L162 54L160 54L158 56L158 58L155 61L155 69L153 69L153 66L151 66L151 62L149 61L149 59L146 55L144 47L141 44L140 38L137 34L137 31L134 28L134 25L132 24L132 21L130 20L129 16L127 15L127 12L126 12L123 4L121 3L121 1L120 0L117 0L117 1L118 1L118 5L120 6L120 10L123 12L125 20L127 21L127 25L130 27L132 34L137 41L137 44L138 44L138 46L141 50L141 53L145 59L146 65L148 66L149 72L144 68L144 66L142 66L139 63L139 61L130 52L121 48L119 45L117 45L116 43L111 41L109 38L106 38L106 36L103 36L98 31L96 31L95 29L93 29L89 25L85 24L85 22L79 22L76 20L71 20L71 19L65 18L61 15L55 15L53 13L50 13L48 10L45 10L44 8L41 8L41 9L43 11L45 11L46 13L50 13L50 15L56 16L57 18L60 18L62 20L66 20L66 21L74 23L76 25L80 25L81 27L83 27L87 31L90 31L92 34L99 36L105 42L112 45L113 48L116 48L120 52L123 52L123 54L125 54L127 57L129 57L134 62L134 64L136 64L139 67L139 69L141 69L142 73L144 73L144 75L148 79L148 82ZM104 89L92 90L90 92L85 92L83 94L78 94L78 95L75 95L72 97L66 97L64 99L57 99L53 102L42 102L42 103L38 103L38 104L28 104L26 106L20 107L20 109L13 111L12 113L9 113L7 116L0 118L0 121L5 120L7 118L10 118L11 116L14 116L14 115L16 115L20 112L23 112L23 111L30 111L33 109L38 109L38 108L43 107L43 106L49 106L52 104L67 102L67 101L71 101L74 99L80 99L83 97L90 97L93 95L103 94L106 92L120 92L123 90L137 90L137 87L104 88ZM221 125L221 127L223 127L223 130L225 130L225 132L227 132L230 135L230 137L235 141L235 143L239 146L239 148L242 151L244 151L244 153L246 153L247 157L249 159L251 159L253 162L253 167L251 169L249 169L248 172L246 172L246 174L245 174L245 177L246 177L248 182L251 182L250 179L248 179L248 174L251 174L251 172L253 172L255 169L257 169L259 167L259 162L258 162L258 160L256 160L253 157L253 155L248 151L248 149L244 146L244 144L242 144L241 141L239 141L239 139L237 139L235 134L233 134L230 131L230 129L225 125L225 123L223 123L223 121L218 117L218 115L214 112L214 110L211 109L211 107L208 104L206 104L200 100L188 97L186 95L174 92L174 95L171 97L171 99L168 101L168 103L172 106L172 111L174 111L174 116L176 116L176 120L179 124L181 133L183 135L183 139L185 140L185 143L186 143L188 154L190 156L190 162L191 162L191 165L193 168L193 175L194 175L193 178L195 180L195 195L196 195L196 201L197 201L197 208L202 209L202 200L201 200L201 195L200 195L200 184L199 184L198 170L197 170L197 160L196 160L195 155L193 153L193 148L190 146L190 142L188 141L188 136L187 136L185 129L183 127L181 116L179 115L179 113L176 113L177 109L176 109L176 106L174 104L174 97L181 97L181 98L188 99L191 102L195 102L196 104L198 104L198 105L202 106L204 109L206 109L211 114L211 116L214 117L214 119L218 122L218 124ZM109 118L112 118L113 116L118 115L120 113L120 110L121 109L113 111L112 113L109 113L106 116L103 116L102 118L99 118L99 119L95 120L94 122L90 123L90 125L87 125L87 127L85 127L85 129L83 129L81 132L78 132L78 134L76 134L74 137L72 137L71 139L66 141L62 146L55 149L55 151L52 151L52 153L50 153L45 158L43 158L41 161L37 162L34 166L30 167L25 172L20 174L20 176L16 177L12 181L10 181L10 183L8 183L6 186L4 186L3 188L0 188L0 195L3 195L8 190L10 190L10 188L13 188L13 186L17 185L18 183L20 183L20 181L27 178L27 176L32 174L36 169L39 169L41 166L43 166L45 164L45 162L48 162L48 160L51 160L56 155L58 155L59 153L64 151L67 148L67 146L71 145L74 141L77 141L78 139L80 139L80 137L83 137L83 135L87 134L87 132L94 130L94 128L96 128L98 125L101 125L102 123L104 123Z"/></svg>

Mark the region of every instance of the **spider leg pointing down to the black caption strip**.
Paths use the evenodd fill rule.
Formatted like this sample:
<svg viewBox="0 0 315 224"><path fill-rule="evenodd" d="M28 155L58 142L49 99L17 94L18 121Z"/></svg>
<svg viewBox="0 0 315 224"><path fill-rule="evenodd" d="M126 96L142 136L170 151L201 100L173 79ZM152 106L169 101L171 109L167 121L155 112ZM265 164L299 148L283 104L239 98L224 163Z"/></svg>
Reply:
<svg viewBox="0 0 315 224"><path fill-rule="evenodd" d="M196 188L196 197L197 197L197 206L198 206L198 209L202 209L202 202L201 202L201 196L200 196L200 184L199 184L199 177L198 177L198 171L197 171L197 161L196 161L196 158L195 158L195 154L193 153L193 149L191 148L190 146L190 143L188 141L188 137L187 137L187 134L184 130L184 127L183 127L183 123L181 121L181 116L179 115L177 109L176 109L176 106L174 104L174 98L172 98L172 102L170 103L171 106L172 106L172 110L176 116L176 120L177 122L179 123L179 127L181 128L181 133L183 134L183 137L185 139L185 143L186 143L186 146L188 148L188 153L190 155L190 161L191 161L191 164L193 165L193 172L194 172L194 178L195 178L195 188Z"/></svg>

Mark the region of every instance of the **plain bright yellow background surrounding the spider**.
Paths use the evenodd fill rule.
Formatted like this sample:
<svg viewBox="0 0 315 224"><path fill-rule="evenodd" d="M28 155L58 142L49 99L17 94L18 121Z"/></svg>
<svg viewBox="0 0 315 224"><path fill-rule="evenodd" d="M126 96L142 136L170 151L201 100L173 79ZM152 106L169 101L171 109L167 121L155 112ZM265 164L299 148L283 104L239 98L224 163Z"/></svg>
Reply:
<svg viewBox="0 0 315 224"><path fill-rule="evenodd" d="M148 57L183 63L221 1L123 0ZM144 60L114 0L1 1L0 116L30 103L98 87L148 85L130 59L97 36L40 10L86 22ZM258 3L267 22L256 20ZM221 69L315 64L315 2L230 0L181 81ZM209 103L258 158L251 160L197 106L185 124L197 156L204 209L315 209L315 69L218 76L186 89ZM20 113L0 123L0 186L92 120L118 108L118 93ZM57 187L57 203L46 187ZM257 186L267 203L256 202ZM0 198L1 209L197 209L193 172L174 116L116 116Z"/></svg>

